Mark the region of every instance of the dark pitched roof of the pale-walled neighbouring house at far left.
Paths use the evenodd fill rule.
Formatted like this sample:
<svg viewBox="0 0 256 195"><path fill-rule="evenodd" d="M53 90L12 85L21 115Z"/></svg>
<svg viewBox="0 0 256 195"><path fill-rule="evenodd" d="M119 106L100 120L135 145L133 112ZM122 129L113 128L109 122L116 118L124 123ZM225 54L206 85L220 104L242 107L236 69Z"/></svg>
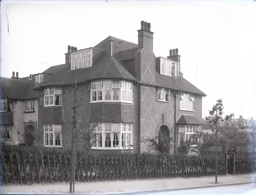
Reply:
<svg viewBox="0 0 256 195"><path fill-rule="evenodd" d="M1 95L3 96L6 95L6 97L13 99L29 99L38 97L37 92L32 90L34 87L33 80L24 81L0 77L0 83L4 90L1 92Z"/></svg>

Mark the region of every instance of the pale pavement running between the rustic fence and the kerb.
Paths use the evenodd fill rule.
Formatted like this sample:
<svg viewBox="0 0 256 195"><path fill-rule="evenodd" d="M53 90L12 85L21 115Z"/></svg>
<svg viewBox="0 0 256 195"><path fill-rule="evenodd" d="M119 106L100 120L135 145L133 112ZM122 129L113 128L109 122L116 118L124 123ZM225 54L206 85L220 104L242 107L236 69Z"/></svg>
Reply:
<svg viewBox="0 0 256 195"><path fill-rule="evenodd" d="M167 191L210 188L217 186L255 183L255 174L163 178L125 181L76 182L75 193L69 193L69 183L46 183L32 185L5 185L1 194L147 194ZM256 185L255 185L256 187Z"/></svg>

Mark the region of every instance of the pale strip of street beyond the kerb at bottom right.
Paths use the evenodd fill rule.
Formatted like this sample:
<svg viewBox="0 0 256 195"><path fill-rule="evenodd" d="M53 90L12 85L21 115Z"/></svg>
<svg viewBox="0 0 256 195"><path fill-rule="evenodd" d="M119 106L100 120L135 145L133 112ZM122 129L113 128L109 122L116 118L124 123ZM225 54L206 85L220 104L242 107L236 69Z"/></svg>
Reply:
<svg viewBox="0 0 256 195"><path fill-rule="evenodd" d="M184 194L184 195L206 195L206 194L256 194L256 184L249 183L243 185L230 185L230 186L220 186L220 187L210 187L210 188L199 188L192 190L178 190L178 191L166 191L166 192L156 192L147 193L148 195L169 195L169 194ZM145 194L146 195L146 194Z"/></svg>

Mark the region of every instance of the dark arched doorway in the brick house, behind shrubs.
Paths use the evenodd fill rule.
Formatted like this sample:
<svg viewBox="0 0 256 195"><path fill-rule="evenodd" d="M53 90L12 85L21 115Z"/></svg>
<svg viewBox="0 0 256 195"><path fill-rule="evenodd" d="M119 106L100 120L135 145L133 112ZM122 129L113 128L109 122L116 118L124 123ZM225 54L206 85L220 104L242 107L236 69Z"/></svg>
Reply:
<svg viewBox="0 0 256 195"><path fill-rule="evenodd" d="M170 152L170 131L166 125L162 125L158 131L158 151Z"/></svg>

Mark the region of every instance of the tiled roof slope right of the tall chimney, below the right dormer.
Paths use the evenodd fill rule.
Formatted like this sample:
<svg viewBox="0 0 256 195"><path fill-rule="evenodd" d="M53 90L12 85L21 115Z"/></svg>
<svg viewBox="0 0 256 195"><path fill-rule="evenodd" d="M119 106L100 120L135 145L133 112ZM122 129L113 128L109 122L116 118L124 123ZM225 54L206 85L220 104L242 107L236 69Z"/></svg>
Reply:
<svg viewBox="0 0 256 195"><path fill-rule="evenodd" d="M195 85L188 82L183 77L178 76L177 78L173 78L170 76L162 75L158 71L156 71L156 85L163 88L187 91L191 93L201 94L203 96L206 95L203 91L199 90Z"/></svg>

